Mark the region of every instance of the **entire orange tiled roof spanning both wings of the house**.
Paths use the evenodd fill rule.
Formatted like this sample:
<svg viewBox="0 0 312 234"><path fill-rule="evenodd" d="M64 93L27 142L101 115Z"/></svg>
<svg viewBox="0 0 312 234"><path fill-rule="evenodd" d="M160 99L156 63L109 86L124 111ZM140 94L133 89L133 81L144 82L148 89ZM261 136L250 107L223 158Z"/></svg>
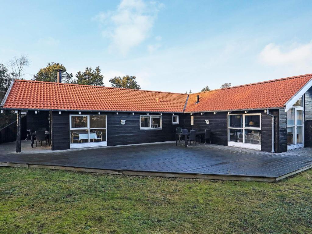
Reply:
<svg viewBox="0 0 312 234"><path fill-rule="evenodd" d="M142 112L279 108L284 107L285 103L311 79L312 74L307 74L191 95L15 80L3 108Z"/></svg>

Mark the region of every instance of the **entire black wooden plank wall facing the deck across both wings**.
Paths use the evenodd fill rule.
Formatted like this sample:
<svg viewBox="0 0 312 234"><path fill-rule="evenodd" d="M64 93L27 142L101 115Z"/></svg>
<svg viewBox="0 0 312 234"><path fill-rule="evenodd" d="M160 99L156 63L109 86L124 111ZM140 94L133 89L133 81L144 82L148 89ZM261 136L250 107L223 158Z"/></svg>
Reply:
<svg viewBox="0 0 312 234"><path fill-rule="evenodd" d="M96 114L97 112L82 112L83 114ZM232 112L234 114L234 112ZM237 114L243 112L235 112ZM260 113L253 111L249 113ZM271 110L275 115L275 151L282 152L283 148L279 146L280 143L285 144L285 139L281 137L284 129L279 129L280 124L285 120L279 119L278 110ZM69 149L69 115L78 114L78 112L62 111L58 114L57 111L52 112L52 150ZM190 114L178 114L179 124L172 124L172 114L163 113L162 115L162 129L148 129L140 130L139 121L140 113L125 113L119 112L117 115L113 112L102 112L107 115L107 145L124 145L124 144L141 144L152 142L171 141L175 139L176 127L194 129L211 129L212 144L227 145L227 112L213 113L194 113L194 124L191 125ZM142 113L141 115L145 115ZM209 119L209 124L206 124L205 119ZM126 120L122 125L120 120ZM261 111L261 150L271 152L271 117ZM286 146L287 149L287 146Z"/></svg>

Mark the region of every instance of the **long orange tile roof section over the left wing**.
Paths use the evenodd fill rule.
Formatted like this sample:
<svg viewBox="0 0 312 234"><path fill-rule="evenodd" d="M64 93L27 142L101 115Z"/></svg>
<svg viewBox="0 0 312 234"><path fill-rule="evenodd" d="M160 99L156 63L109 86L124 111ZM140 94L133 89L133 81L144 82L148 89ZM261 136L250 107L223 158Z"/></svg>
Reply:
<svg viewBox="0 0 312 234"><path fill-rule="evenodd" d="M3 108L183 112L187 96L157 91L15 80Z"/></svg>

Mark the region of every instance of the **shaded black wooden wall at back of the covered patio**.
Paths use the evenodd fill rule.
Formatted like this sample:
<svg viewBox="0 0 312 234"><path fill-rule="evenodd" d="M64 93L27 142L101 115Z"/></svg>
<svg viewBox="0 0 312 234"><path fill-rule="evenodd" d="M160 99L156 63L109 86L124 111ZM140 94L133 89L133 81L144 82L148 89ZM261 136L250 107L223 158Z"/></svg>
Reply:
<svg viewBox="0 0 312 234"><path fill-rule="evenodd" d="M27 129L31 129L33 132L39 128L46 128L49 130L49 111L40 111L35 114L35 111L28 111L27 114Z"/></svg>

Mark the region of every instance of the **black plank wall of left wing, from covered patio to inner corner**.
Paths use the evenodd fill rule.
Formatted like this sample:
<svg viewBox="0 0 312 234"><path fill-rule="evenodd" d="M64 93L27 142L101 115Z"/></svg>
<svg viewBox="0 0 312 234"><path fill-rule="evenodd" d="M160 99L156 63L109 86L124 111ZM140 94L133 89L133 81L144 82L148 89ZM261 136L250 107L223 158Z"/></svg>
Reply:
<svg viewBox="0 0 312 234"><path fill-rule="evenodd" d="M69 149L69 115L77 115L78 112L58 111L52 112L52 150ZM81 115L96 115L97 112L81 112ZM163 113L162 129L140 130L140 115L145 113L125 113L119 112L118 115L113 112L101 112L107 115L107 146L124 145L124 144L141 144L171 141L175 139L176 127L181 124L172 124L172 114ZM149 113L151 115L151 113ZM179 115L179 123L182 123L183 114ZM120 120L126 120L122 125Z"/></svg>

